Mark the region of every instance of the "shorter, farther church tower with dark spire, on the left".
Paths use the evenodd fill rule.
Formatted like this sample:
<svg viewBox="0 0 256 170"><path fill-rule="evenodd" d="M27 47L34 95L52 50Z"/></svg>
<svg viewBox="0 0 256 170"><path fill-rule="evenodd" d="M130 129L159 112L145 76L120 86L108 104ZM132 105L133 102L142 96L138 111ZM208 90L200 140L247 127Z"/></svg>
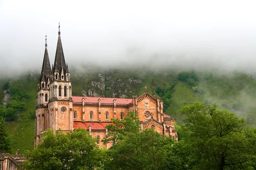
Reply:
<svg viewBox="0 0 256 170"><path fill-rule="evenodd" d="M35 115L35 146L39 142L42 132L47 129L49 84L51 77L51 65L47 51L47 36L45 36L45 50L42 71L39 76L38 91L36 95L36 115Z"/></svg>

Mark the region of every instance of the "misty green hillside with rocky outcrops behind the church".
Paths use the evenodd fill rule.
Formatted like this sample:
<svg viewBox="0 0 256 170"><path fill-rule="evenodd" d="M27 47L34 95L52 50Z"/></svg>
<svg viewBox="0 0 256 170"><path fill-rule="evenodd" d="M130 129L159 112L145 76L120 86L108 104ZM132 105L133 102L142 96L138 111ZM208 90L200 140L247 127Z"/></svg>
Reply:
<svg viewBox="0 0 256 170"><path fill-rule="evenodd" d="M246 74L233 72L229 75L213 73L193 73L194 78L180 80L173 71L123 71L120 69L91 70L90 72L71 72L73 96L125 97L143 94L145 85L150 94L156 93L164 102L164 113L182 124L181 106L195 102L217 103L221 109L227 109L243 117L248 126L256 125L256 80ZM33 73L33 75L39 75ZM35 106L38 77L30 73L18 78L0 80L0 108L4 97L12 94L11 89L18 89L24 94L22 100L26 108L18 112L17 120L6 122L12 138L12 153L17 148L20 153L34 148ZM4 93L6 83L9 89ZM8 102L14 99L9 97ZM21 104L22 102L20 102ZM9 104L10 105L10 104ZM1 115L1 110L0 110Z"/></svg>

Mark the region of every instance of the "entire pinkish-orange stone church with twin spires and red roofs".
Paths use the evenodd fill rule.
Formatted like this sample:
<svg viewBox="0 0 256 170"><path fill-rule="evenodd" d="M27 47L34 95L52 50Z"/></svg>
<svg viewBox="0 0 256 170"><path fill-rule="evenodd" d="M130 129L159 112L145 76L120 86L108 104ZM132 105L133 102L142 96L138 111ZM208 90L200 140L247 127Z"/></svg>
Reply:
<svg viewBox="0 0 256 170"><path fill-rule="evenodd" d="M137 112L141 130L154 128L158 133L177 140L175 120L163 113L163 101L145 92L132 99L72 96L70 71L65 62L61 44L60 26L54 65L50 65L45 43L44 60L36 95L35 147L41 135L50 128L64 133L77 128L87 129L96 137L99 147L109 148L112 143L103 144L108 136L106 125L112 118L124 119L128 111Z"/></svg>

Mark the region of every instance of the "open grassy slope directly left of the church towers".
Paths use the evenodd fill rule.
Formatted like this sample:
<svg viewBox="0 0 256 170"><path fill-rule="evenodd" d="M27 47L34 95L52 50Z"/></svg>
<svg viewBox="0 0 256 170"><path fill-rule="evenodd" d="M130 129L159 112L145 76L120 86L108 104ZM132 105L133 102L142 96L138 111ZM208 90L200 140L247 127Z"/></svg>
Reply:
<svg viewBox="0 0 256 170"><path fill-rule="evenodd" d="M19 153L23 154L25 150L34 149L35 137L35 106L36 91L38 80L29 79L30 75L25 74L19 79L12 80L12 85L26 92L26 110L20 113L16 122L8 122L6 129L12 139L11 153L15 153L19 148Z"/></svg>

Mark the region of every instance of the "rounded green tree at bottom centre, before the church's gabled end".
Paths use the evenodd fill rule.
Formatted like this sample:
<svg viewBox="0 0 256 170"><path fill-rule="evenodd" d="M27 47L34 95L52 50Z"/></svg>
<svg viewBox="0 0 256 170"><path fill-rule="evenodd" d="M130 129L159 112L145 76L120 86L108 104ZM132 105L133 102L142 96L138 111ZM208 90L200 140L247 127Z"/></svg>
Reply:
<svg viewBox="0 0 256 170"><path fill-rule="evenodd" d="M167 150L174 143L153 129L143 132L128 133L109 150L109 161L105 162L106 170L163 170L168 162ZM169 145L169 147L164 147ZM171 158L169 158L171 159Z"/></svg>

